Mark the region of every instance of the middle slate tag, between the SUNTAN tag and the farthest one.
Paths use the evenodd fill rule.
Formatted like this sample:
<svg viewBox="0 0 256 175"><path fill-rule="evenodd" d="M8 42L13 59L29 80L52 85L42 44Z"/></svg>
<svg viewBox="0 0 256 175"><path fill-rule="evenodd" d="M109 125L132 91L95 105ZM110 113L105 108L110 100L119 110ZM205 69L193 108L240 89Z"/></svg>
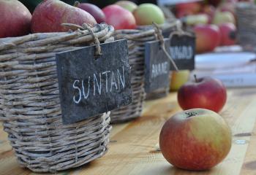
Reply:
<svg viewBox="0 0 256 175"><path fill-rule="evenodd" d="M170 47L170 40L165 39L165 48ZM145 91L151 93L169 86L170 61L162 50L159 41L145 44Z"/></svg>

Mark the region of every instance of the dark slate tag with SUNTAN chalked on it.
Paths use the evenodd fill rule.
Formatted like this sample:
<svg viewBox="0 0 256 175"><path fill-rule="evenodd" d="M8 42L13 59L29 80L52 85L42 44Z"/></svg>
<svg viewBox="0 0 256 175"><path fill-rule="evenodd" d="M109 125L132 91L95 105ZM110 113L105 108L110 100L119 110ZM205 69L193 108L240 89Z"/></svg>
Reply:
<svg viewBox="0 0 256 175"><path fill-rule="evenodd" d="M86 120L132 102L127 39L56 54L64 124Z"/></svg>

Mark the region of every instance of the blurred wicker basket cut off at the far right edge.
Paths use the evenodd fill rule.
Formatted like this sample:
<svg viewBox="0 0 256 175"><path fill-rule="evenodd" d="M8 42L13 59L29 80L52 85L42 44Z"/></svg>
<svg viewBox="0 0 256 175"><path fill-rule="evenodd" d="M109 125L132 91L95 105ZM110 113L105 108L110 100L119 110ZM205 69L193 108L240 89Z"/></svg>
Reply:
<svg viewBox="0 0 256 175"><path fill-rule="evenodd" d="M238 43L245 50L256 50L256 5L241 2L236 6Z"/></svg>

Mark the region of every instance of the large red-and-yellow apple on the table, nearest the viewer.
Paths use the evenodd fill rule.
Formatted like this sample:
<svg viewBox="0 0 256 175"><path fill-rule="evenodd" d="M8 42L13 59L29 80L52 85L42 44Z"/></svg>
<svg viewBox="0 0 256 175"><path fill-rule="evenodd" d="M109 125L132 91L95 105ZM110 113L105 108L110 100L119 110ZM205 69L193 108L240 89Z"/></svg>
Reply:
<svg viewBox="0 0 256 175"><path fill-rule="evenodd" d="M189 109L165 122L159 147L165 159L178 168L203 171L222 162L230 152L230 127L216 112Z"/></svg>

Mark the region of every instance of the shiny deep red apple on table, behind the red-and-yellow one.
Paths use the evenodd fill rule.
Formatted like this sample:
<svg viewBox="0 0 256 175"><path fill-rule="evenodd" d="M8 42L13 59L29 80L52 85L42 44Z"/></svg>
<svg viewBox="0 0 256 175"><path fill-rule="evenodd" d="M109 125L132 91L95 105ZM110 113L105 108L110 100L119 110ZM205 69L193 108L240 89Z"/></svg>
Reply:
<svg viewBox="0 0 256 175"><path fill-rule="evenodd" d="M187 82L178 90L178 104L182 109L203 108L219 112L226 100L225 85L211 77L195 78L195 82Z"/></svg>

